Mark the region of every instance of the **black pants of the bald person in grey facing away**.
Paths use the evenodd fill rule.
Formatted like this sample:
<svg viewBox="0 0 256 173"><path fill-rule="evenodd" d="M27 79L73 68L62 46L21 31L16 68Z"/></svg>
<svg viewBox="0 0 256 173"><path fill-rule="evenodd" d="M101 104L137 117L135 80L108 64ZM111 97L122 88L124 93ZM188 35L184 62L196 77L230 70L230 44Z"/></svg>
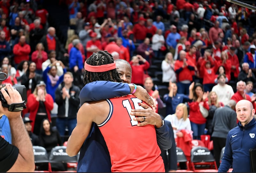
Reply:
<svg viewBox="0 0 256 173"><path fill-rule="evenodd" d="M213 140L213 153L214 158L217 164L217 167L220 167L220 152L221 149L226 145L226 138L216 138L212 137Z"/></svg>

